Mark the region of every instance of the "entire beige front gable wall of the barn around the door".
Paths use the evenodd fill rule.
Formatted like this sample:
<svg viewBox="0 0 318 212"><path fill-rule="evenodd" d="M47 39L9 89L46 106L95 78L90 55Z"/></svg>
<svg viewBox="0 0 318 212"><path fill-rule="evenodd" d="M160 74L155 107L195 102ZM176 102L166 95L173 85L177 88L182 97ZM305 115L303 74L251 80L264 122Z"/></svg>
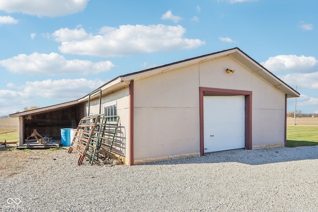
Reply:
<svg viewBox="0 0 318 212"><path fill-rule="evenodd" d="M252 91L252 147L284 144L285 94L230 57L136 80L134 87L135 160L200 152L199 87Z"/></svg>

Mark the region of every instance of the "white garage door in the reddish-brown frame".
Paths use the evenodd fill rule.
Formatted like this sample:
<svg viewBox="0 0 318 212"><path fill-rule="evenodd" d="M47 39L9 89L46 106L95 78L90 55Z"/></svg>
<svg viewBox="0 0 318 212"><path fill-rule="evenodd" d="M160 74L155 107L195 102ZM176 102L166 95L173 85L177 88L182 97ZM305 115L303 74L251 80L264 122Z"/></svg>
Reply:
<svg viewBox="0 0 318 212"><path fill-rule="evenodd" d="M245 147L245 96L204 96L204 152Z"/></svg>

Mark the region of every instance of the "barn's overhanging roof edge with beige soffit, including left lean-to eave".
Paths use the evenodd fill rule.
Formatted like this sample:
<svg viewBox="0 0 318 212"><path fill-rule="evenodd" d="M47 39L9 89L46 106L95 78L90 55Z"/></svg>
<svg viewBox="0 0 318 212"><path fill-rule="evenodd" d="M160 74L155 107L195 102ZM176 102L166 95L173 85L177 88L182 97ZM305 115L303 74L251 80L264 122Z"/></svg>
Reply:
<svg viewBox="0 0 318 212"><path fill-rule="evenodd" d="M253 60L251 57L249 57L247 54L245 54L243 51L241 51L239 48L233 48L228 49L220 52L215 52L207 55L202 55L195 58L190 58L170 64L166 64L163 66L143 70L143 71L137 71L133 73L128 73L122 76L118 76L104 85L100 86L96 90L101 90L106 92L115 92L116 90L123 89L125 87L128 87L130 80L137 80L144 77L149 77L152 75L163 73L164 71L170 71L174 69L180 69L182 67L191 66L198 63L203 63L205 61L209 60L215 60L222 57L231 57L233 60L244 66L246 69L251 71L252 73L258 75L260 78L264 79L268 83L270 83L273 87L280 90L281 92L285 93L287 97L299 97L300 93L298 93L296 90L294 90L292 87L290 87L288 84L286 84L284 81L279 79L277 76L275 76L272 72L265 69L262 65L257 63L255 60ZM97 94L96 94L97 95ZM95 95L94 95L95 96ZM89 97L89 94L84 96L83 98L80 98L78 100L67 102L59 105L53 105L49 107L44 108L38 108L31 111L25 111L20 113L11 114L11 117L17 117L17 116L24 116L28 114L34 114L39 112L44 112L47 110L55 110L58 108L63 108L71 105L78 104L80 102L86 101ZM93 97L93 96L92 96Z"/></svg>

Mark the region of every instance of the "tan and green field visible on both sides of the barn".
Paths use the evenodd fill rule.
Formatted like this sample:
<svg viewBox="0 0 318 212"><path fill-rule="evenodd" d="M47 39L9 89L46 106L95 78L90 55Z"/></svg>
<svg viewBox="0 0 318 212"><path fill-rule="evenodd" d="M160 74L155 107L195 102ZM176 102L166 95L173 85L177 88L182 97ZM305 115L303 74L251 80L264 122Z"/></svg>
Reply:
<svg viewBox="0 0 318 212"><path fill-rule="evenodd" d="M19 119L0 118L0 142L19 141ZM318 145L318 117L287 118L287 146Z"/></svg>

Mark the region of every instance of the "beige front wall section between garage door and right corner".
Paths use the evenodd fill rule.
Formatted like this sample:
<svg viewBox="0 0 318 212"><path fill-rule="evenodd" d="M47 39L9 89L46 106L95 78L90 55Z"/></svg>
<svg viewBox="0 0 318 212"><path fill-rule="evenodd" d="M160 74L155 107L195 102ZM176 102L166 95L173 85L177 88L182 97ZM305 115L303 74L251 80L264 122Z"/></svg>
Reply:
<svg viewBox="0 0 318 212"><path fill-rule="evenodd" d="M285 144L285 94L252 78L252 147Z"/></svg>

